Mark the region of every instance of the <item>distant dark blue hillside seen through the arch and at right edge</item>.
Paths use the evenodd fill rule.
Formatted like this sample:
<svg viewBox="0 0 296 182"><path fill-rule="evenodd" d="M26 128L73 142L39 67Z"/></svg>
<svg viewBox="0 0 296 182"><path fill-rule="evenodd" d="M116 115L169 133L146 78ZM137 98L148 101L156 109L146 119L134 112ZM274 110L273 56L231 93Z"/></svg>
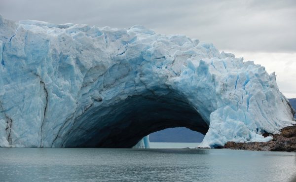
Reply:
<svg viewBox="0 0 296 182"><path fill-rule="evenodd" d="M289 99L290 104L296 109L296 98ZM296 118L296 115L294 116ZM150 142L202 142L204 135L187 128L167 128L158 132L151 133Z"/></svg>

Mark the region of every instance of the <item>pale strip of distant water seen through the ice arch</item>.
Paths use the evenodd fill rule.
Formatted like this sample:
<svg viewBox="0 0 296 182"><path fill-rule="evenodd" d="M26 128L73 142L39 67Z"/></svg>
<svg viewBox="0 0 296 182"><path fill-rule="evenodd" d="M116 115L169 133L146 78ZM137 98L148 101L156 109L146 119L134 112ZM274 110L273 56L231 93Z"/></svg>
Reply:
<svg viewBox="0 0 296 182"><path fill-rule="evenodd" d="M150 142L150 148L195 148L200 143Z"/></svg>

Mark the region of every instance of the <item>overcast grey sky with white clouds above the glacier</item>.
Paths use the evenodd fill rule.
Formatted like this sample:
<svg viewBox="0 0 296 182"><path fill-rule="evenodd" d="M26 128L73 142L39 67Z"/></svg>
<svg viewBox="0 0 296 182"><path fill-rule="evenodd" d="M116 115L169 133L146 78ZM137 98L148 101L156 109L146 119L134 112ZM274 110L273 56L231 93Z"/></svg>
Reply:
<svg viewBox="0 0 296 182"><path fill-rule="evenodd" d="M10 20L129 28L212 42L276 72L279 89L296 98L296 0L0 0Z"/></svg>

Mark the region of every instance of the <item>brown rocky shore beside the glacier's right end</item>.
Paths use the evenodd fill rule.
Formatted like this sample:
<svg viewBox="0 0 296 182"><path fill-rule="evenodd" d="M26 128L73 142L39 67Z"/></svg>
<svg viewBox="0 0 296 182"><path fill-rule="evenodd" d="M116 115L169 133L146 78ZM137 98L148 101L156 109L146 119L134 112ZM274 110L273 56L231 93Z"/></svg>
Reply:
<svg viewBox="0 0 296 182"><path fill-rule="evenodd" d="M267 137L272 134L264 134ZM263 150L263 151L287 151L296 152L296 125L288 126L280 130L278 134L272 135L269 142L234 143L227 142L223 148L242 150Z"/></svg>

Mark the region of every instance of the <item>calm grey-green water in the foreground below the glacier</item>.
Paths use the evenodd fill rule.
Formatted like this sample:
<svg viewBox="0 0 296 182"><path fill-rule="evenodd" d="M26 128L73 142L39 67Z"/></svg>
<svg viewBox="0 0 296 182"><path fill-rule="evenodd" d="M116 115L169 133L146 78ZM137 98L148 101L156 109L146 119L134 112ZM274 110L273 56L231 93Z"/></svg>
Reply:
<svg viewBox="0 0 296 182"><path fill-rule="evenodd" d="M296 153L228 149L0 148L0 182L289 182Z"/></svg>

